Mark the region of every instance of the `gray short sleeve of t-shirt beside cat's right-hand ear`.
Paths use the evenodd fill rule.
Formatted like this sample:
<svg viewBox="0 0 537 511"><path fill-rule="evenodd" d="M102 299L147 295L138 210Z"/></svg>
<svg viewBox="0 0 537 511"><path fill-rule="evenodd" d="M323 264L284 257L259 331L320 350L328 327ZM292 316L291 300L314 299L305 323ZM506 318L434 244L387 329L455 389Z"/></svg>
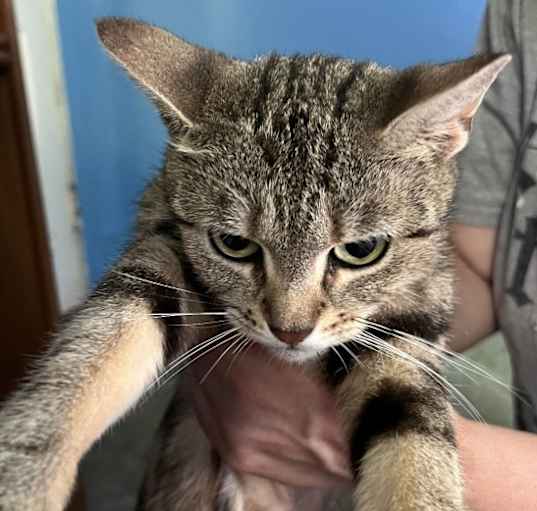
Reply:
<svg viewBox="0 0 537 511"><path fill-rule="evenodd" d="M523 115L519 4L490 1L481 27L478 52L507 52L513 60L487 92L459 156L453 218L458 223L496 228L514 170Z"/></svg>

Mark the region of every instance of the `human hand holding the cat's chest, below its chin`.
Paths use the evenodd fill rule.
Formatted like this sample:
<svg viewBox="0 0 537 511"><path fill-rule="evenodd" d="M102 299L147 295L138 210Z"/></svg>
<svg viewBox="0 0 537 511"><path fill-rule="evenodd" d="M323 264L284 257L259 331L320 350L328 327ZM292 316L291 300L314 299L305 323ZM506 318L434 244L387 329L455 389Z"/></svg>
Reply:
<svg viewBox="0 0 537 511"><path fill-rule="evenodd" d="M197 381L220 354L195 364ZM269 361L257 344L231 368L229 360L194 391L198 419L224 461L237 472L291 486L348 485L348 448L328 389L300 367Z"/></svg>

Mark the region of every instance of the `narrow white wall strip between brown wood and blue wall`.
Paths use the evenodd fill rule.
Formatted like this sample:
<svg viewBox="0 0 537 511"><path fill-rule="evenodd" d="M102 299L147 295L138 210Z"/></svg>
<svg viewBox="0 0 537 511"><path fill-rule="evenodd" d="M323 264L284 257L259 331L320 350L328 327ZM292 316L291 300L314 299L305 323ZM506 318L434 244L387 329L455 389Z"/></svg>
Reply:
<svg viewBox="0 0 537 511"><path fill-rule="evenodd" d="M15 0L14 7L49 246L60 308L65 311L86 293L87 270L56 1Z"/></svg>

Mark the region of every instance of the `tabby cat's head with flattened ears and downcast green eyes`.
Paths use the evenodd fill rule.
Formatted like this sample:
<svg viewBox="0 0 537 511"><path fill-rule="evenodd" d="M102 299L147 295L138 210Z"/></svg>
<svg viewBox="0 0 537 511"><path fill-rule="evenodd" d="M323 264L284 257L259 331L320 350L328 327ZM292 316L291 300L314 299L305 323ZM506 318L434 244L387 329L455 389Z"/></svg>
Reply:
<svg viewBox="0 0 537 511"><path fill-rule="evenodd" d="M242 62L126 19L98 32L160 110L186 258L244 333L301 361L375 324L446 330L454 156L508 56L395 71Z"/></svg>

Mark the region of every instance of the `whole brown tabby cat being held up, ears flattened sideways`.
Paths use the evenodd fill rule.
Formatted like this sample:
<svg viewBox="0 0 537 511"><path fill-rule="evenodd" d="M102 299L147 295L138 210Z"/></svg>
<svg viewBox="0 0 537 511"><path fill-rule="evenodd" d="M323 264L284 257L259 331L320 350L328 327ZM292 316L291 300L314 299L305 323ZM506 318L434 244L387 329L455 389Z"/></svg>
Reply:
<svg viewBox="0 0 537 511"><path fill-rule="evenodd" d="M356 509L462 511L438 373L454 157L510 57L403 71L322 55L245 62L132 19L97 31L156 104L166 160L132 242L3 405L0 509L64 509L82 455L166 365L248 338L331 387ZM199 344L200 329L174 324L202 312L229 328ZM209 458L188 396L166 422L142 509L267 507L265 483Z"/></svg>

